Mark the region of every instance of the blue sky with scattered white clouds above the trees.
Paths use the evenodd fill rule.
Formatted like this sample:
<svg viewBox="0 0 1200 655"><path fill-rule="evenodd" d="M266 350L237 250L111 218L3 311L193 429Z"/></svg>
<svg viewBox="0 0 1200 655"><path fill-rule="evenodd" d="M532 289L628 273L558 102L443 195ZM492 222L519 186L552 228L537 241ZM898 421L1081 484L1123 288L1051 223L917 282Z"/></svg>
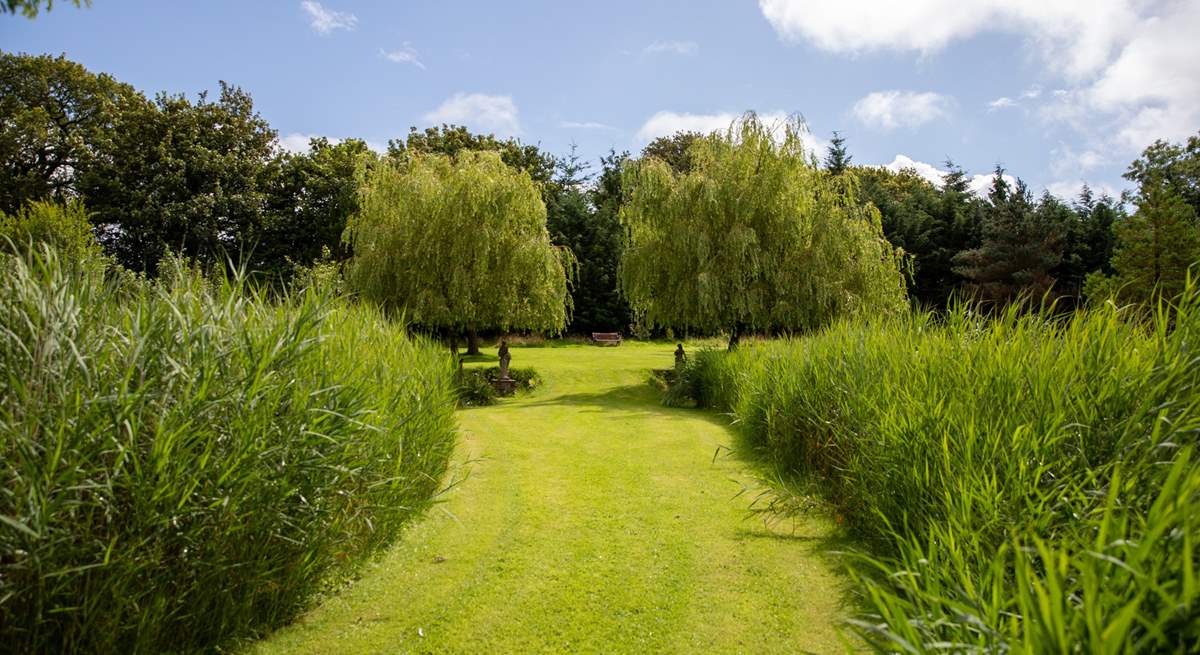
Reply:
<svg viewBox="0 0 1200 655"><path fill-rule="evenodd" d="M466 125L594 162L740 113L834 131L859 164L996 166L1110 193L1200 130L1198 0L59 0L0 49L65 54L148 95L226 80L280 145Z"/></svg>

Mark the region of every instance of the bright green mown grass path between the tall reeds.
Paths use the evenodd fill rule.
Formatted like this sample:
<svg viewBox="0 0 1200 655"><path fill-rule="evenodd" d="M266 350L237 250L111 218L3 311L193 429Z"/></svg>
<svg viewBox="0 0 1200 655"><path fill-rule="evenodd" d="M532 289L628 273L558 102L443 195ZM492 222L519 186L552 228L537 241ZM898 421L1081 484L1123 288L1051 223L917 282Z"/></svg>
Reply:
<svg viewBox="0 0 1200 655"><path fill-rule="evenodd" d="M514 348L546 384L460 411L470 475L362 578L251 650L830 653L828 525L749 518L716 415L646 384L672 347Z"/></svg>

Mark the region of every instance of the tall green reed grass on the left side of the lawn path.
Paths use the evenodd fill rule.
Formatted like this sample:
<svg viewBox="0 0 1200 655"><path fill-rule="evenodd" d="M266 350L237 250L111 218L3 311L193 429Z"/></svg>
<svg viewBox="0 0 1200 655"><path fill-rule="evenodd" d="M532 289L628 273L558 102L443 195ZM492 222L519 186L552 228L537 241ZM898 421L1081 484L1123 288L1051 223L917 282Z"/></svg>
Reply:
<svg viewBox="0 0 1200 655"><path fill-rule="evenodd" d="M450 367L376 311L166 263L0 258L0 639L211 651L390 543L454 447Z"/></svg>

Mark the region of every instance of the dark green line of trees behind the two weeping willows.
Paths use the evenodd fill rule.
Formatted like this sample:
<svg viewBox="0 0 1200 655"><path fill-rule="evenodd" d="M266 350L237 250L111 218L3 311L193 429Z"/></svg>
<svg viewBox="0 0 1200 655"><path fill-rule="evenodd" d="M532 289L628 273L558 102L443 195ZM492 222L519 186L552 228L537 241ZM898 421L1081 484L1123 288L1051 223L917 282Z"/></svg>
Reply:
<svg viewBox="0 0 1200 655"><path fill-rule="evenodd" d="M640 156L688 172L695 137L659 138ZM241 89L222 83L215 97L150 98L62 56L0 53L0 211L79 200L106 251L150 276L167 252L179 252L203 265L245 264L286 284L301 266L350 254L342 235L364 167L461 150L497 151L542 190L556 245L578 260L569 331L628 330L617 269L629 152L610 152L594 170L574 149L556 157L455 125L414 127L383 154L360 139L320 138L287 152ZM1147 148L1126 174L1136 188L1122 198L1084 187L1069 202L1034 197L998 167L980 196L949 162L941 185L914 170L858 166L839 134L823 155L828 175L878 209L886 236L908 256L908 292L923 307L942 308L953 296L1007 304L1049 295L1063 307L1111 294L1142 300L1181 288L1200 259L1200 137Z"/></svg>

